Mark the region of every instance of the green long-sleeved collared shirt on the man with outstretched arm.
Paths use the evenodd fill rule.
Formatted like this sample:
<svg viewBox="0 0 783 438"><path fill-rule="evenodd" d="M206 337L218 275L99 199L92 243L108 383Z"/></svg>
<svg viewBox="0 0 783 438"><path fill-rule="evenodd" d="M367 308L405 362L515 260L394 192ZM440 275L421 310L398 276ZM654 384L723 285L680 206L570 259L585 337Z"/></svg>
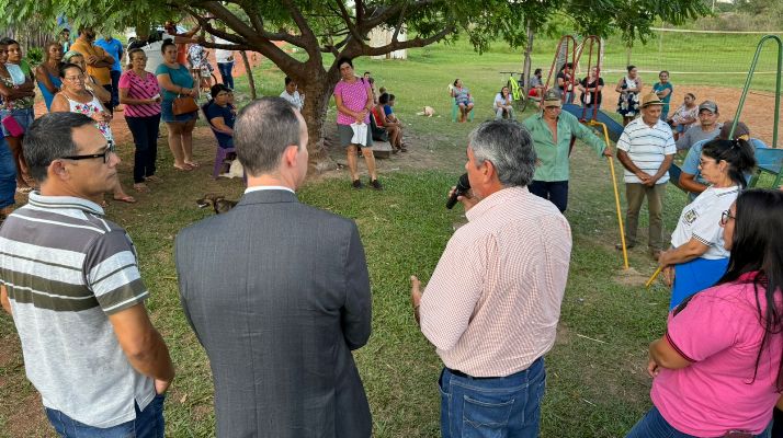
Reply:
<svg viewBox="0 0 783 438"><path fill-rule="evenodd" d="M592 129L579 123L579 119L570 113L561 112L557 117L557 145L555 145L552 129L544 120L542 113L527 117L524 126L533 137L535 155L541 164L535 169L535 181L568 181L570 173L570 161L568 151L570 149L571 136L576 136L591 148L599 157L606 148L606 143L595 136Z"/></svg>

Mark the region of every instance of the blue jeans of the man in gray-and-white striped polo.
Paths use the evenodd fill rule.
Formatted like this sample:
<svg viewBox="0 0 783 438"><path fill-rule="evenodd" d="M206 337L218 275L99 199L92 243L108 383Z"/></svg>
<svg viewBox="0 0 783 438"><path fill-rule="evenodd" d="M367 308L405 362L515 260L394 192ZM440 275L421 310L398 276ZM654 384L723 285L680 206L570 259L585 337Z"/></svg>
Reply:
<svg viewBox="0 0 783 438"><path fill-rule="evenodd" d="M164 399L166 395L156 395L144 411L134 403L136 419L107 428L88 426L48 407L46 416L61 438L163 438Z"/></svg>

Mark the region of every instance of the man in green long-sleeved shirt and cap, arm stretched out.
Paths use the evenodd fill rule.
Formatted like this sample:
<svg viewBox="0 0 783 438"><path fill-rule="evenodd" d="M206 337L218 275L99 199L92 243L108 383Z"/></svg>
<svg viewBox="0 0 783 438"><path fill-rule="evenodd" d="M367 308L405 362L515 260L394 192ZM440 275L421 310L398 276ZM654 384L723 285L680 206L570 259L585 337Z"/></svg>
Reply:
<svg viewBox="0 0 783 438"><path fill-rule="evenodd" d="M544 110L540 114L524 120L538 158L533 182L527 188L534 195L551 200L560 211L566 211L571 137L581 139L604 157L612 157L612 152L592 129L580 124L574 115L563 113L563 103L556 90L546 91L542 106Z"/></svg>

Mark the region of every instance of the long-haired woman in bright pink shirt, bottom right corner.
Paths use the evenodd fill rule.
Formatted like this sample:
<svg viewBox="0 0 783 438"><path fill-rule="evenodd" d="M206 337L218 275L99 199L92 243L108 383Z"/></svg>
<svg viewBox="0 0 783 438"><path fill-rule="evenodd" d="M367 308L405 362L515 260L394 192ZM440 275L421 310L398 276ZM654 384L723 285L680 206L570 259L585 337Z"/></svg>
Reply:
<svg viewBox="0 0 783 438"><path fill-rule="evenodd" d="M769 437L783 404L783 193L745 192L720 224L728 270L650 344L654 406L626 438Z"/></svg>

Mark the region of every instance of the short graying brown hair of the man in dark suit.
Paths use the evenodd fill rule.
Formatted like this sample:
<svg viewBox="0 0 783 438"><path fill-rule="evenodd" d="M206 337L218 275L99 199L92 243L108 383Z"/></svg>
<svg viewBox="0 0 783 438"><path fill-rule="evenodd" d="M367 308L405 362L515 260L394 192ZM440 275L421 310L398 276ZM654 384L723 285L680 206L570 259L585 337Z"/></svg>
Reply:
<svg viewBox="0 0 783 438"><path fill-rule="evenodd" d="M299 148L299 119L281 97L262 97L243 107L234 125L234 147L245 170L258 176L277 170L285 149Z"/></svg>

